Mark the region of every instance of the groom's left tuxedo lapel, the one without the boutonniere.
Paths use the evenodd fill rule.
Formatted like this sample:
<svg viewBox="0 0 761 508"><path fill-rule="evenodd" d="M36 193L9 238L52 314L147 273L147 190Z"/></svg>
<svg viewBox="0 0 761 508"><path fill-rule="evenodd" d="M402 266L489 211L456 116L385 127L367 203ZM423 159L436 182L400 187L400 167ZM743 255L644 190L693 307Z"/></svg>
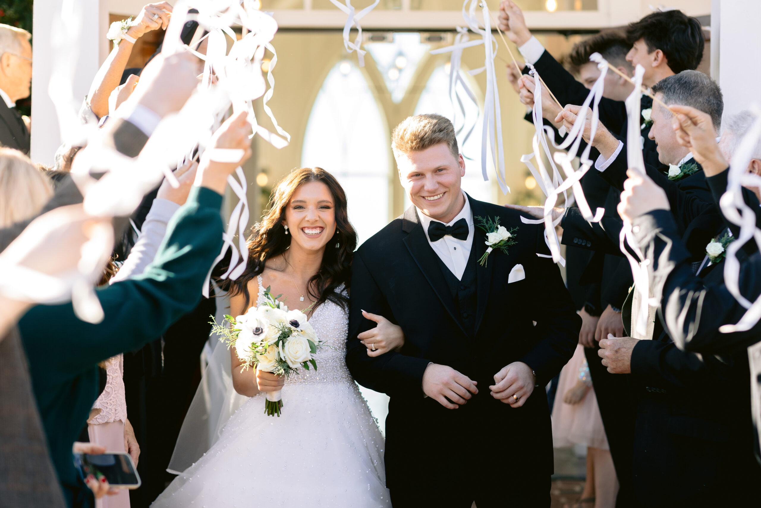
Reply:
<svg viewBox="0 0 761 508"><path fill-rule="evenodd" d="M457 315L457 307L454 305L454 299L452 299L447 282L444 280L444 274L441 273L441 269L438 267L436 253L431 248L431 245L428 244L428 238L425 236L414 205L404 212L402 228L406 233L409 233L403 241L409 254L412 255L412 259L415 260L420 271L425 276L425 280L428 280L431 288L433 288L436 296L441 300L441 304L444 305L444 308L452 316L454 322L467 335L467 331L460 321L460 316Z"/></svg>

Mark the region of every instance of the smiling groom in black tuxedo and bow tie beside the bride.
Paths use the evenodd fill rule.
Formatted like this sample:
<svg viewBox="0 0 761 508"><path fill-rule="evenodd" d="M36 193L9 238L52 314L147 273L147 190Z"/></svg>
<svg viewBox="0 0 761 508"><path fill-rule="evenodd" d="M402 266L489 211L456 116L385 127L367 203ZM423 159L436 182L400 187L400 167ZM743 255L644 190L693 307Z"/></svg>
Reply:
<svg viewBox="0 0 761 508"><path fill-rule="evenodd" d="M473 200L454 126L435 114L396 126L392 148L412 206L352 263L346 363L390 396L386 475L394 508L549 506L552 433L544 386L571 358L581 318L542 225ZM480 219L513 232L485 266ZM361 310L399 324L399 352L368 356ZM366 341L369 342L369 341ZM536 391L536 393L534 393Z"/></svg>

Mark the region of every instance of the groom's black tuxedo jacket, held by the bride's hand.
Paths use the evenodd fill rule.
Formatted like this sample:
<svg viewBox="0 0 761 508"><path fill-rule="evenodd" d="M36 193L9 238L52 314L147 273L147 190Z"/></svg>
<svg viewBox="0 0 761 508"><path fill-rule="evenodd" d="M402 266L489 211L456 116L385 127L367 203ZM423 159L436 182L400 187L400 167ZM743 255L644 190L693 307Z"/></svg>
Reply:
<svg viewBox="0 0 761 508"><path fill-rule="evenodd" d="M473 334L463 325L444 265L428 244L414 206L365 241L352 263L346 363L359 384L390 395L385 462L391 489L450 488L462 479L463 466L494 471L509 457L532 474L552 472L543 387L571 358L581 318L558 267L537 256L549 254L542 225L524 224L519 212L468 199L474 219L498 218L508 230L517 228L509 254L492 251L482 267L476 260L486 251L486 232L476 225L475 253L466 270L476 271ZM517 264L525 278L508 283ZM362 317L361 309L402 327L400 352L368 356L357 335L374 323ZM489 385L500 369L517 361L536 372L538 388L514 409L492 398ZM429 363L469 376L478 382L478 395L456 410L425 398L422 377Z"/></svg>

